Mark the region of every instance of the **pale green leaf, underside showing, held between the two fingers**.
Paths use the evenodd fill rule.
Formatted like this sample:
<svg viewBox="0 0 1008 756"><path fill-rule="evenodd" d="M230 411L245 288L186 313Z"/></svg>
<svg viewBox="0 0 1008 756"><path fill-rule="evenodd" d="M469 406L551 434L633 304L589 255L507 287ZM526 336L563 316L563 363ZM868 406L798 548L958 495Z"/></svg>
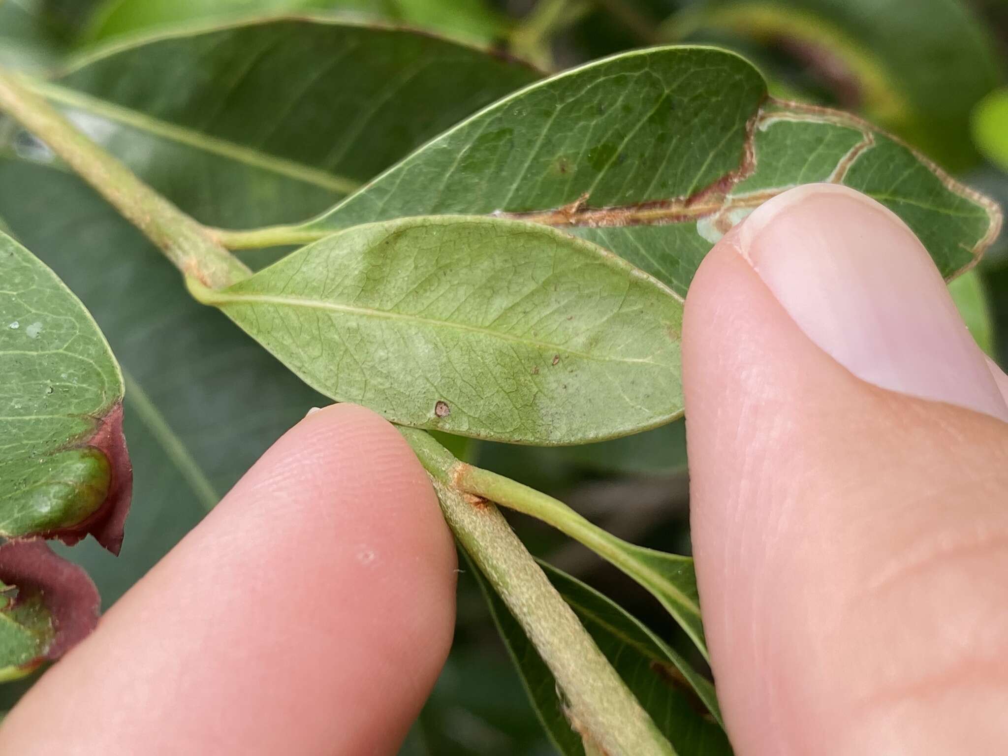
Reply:
<svg viewBox="0 0 1008 756"><path fill-rule="evenodd" d="M400 424L583 444L682 411L681 299L542 226L365 225L223 291L191 285L312 388Z"/></svg>

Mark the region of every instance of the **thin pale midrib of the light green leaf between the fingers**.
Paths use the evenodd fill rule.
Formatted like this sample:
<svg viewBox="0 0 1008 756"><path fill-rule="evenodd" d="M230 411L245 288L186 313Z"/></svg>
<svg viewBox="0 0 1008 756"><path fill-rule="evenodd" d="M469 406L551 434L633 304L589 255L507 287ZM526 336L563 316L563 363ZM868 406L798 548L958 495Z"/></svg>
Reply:
<svg viewBox="0 0 1008 756"><path fill-rule="evenodd" d="M262 294L262 293L238 293L234 291L208 291L205 295L201 296L201 300L205 304L213 304L220 307L226 307L229 304L238 305L248 305L248 304L275 304L277 306L289 306L289 307L304 307L308 309L325 309L331 312L342 312L349 316L359 316L362 318L375 318L380 320L388 321L404 321L406 323L411 323L421 326L429 326L432 328L446 328L455 331L463 331L472 334L478 334L480 336L486 336L492 339L499 339L501 341L510 342L512 344L522 344L525 346L530 346L536 349L540 349L543 352L561 352L568 354L572 357L580 357L585 360L590 360L594 362L617 362L622 364L645 364L654 365L656 367L662 367L660 363L654 360L646 360L640 358L631 357L603 357L600 355L593 355L587 352L579 352L571 347L563 347L558 344L551 344L548 342L539 342L533 339L524 339L522 337L513 336L511 334L506 334L501 331L493 331L491 329L482 328L480 326L470 326L464 323L456 323L452 321L439 321L435 318L424 318L422 316L412 316L406 314L404 312L391 312L385 309L374 309L373 307L361 307L353 304L340 304L338 302L325 301L323 299L309 299L299 296L280 296L276 294Z"/></svg>

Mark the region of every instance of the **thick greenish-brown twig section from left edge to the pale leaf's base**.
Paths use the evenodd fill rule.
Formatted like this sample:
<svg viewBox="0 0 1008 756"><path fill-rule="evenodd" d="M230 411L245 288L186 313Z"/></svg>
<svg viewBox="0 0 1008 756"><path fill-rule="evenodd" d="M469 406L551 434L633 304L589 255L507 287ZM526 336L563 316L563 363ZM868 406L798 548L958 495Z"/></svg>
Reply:
<svg viewBox="0 0 1008 756"><path fill-rule="evenodd" d="M212 288L241 280L249 269L207 230L82 134L59 111L0 71L0 110L41 139L183 274Z"/></svg>

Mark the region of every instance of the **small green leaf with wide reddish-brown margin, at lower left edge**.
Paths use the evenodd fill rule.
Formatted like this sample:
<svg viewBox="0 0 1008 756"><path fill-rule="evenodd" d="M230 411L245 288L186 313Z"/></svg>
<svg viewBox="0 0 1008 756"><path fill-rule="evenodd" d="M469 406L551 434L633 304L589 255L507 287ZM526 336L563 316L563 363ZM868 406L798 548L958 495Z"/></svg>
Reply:
<svg viewBox="0 0 1008 756"><path fill-rule="evenodd" d="M98 624L98 591L42 540L0 545L0 682L55 660Z"/></svg>

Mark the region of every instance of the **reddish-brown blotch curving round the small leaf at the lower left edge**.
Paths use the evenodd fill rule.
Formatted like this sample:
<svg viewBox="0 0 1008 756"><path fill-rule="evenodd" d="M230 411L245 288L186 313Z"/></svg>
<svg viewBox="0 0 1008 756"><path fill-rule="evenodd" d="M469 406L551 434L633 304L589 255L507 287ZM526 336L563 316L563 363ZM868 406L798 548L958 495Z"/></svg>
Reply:
<svg viewBox="0 0 1008 756"><path fill-rule="evenodd" d="M58 659L98 625L101 599L95 584L80 566L53 553L41 538L11 540L0 546L0 581L16 587L19 597L41 596L54 631L44 659Z"/></svg>

